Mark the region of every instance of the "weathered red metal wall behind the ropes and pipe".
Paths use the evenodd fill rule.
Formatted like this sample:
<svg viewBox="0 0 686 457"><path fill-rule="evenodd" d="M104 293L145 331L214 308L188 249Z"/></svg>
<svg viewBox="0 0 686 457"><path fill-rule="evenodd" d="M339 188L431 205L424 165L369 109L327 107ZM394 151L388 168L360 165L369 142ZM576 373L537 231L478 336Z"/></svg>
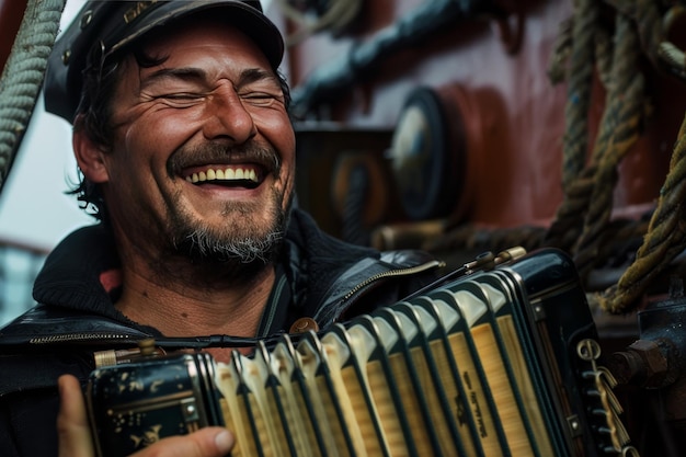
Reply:
<svg viewBox="0 0 686 457"><path fill-rule="evenodd" d="M332 56L411 12L423 0L364 2L355 32L334 38L316 35L290 49L291 84L298 87ZM330 119L345 126L392 129L412 89L458 89L459 104L470 106L467 122L479 134L469 151L472 196L468 220L495 226L547 224L562 198L561 155L564 135L564 83L547 76L560 23L572 14L570 0L511 2L508 24L523 19L522 43L510 54L493 19L475 19L436 34L422 45L389 56L370 77L341 91ZM648 70L653 116L620 168L615 209L643 210L656 196L686 106L684 84ZM596 84L588 114L592 135L603 113ZM457 98L455 98L458 103ZM593 145L593 138L590 140Z"/></svg>

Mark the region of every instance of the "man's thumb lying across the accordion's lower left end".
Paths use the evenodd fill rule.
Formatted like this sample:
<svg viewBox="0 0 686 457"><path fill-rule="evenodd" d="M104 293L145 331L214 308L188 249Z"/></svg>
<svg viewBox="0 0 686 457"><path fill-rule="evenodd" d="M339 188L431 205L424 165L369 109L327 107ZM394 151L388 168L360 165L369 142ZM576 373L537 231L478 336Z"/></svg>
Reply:
<svg viewBox="0 0 686 457"><path fill-rule="evenodd" d="M190 435L161 439L132 457L224 457L232 447L233 435L229 431L206 427Z"/></svg>

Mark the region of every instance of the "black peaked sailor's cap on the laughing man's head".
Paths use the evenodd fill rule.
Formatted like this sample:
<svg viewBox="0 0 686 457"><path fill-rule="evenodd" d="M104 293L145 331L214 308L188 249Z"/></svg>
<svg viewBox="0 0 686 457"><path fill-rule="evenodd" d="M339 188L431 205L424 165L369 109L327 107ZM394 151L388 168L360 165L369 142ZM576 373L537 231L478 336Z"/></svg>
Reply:
<svg viewBox="0 0 686 457"><path fill-rule="evenodd" d="M262 12L259 0L91 0L59 37L48 58L45 108L69 122L79 106L82 72L93 46L105 59L148 32L199 11L217 10L262 49L276 69L284 55L281 32Z"/></svg>

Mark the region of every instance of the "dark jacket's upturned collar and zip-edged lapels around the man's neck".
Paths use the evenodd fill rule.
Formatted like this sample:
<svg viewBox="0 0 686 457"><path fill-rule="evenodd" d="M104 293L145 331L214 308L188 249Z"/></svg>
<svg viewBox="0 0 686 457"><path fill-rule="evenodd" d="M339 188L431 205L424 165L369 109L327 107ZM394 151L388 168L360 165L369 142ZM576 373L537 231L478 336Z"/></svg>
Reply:
<svg viewBox="0 0 686 457"><path fill-rule="evenodd" d="M370 277L397 271L412 274L418 264L433 270L438 262L415 251L381 256L369 248L347 244L322 232L310 216L295 209L282 258L293 293L286 320L317 317L323 328L375 285ZM161 336L114 307L118 265L114 240L105 228L96 225L77 230L50 253L36 278L34 298L42 305L1 329L0 342L62 338L92 343Z"/></svg>

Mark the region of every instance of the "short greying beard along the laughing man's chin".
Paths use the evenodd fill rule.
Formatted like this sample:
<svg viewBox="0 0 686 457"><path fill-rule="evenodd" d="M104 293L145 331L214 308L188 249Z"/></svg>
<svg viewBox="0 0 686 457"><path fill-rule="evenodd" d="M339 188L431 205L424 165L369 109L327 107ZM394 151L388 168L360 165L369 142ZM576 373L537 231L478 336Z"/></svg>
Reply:
<svg viewBox="0 0 686 457"><path fill-rule="evenodd" d="M186 237L183 244L194 258L267 264L274 259L283 238L283 232L273 231L261 239L218 240L207 229L197 229Z"/></svg>

